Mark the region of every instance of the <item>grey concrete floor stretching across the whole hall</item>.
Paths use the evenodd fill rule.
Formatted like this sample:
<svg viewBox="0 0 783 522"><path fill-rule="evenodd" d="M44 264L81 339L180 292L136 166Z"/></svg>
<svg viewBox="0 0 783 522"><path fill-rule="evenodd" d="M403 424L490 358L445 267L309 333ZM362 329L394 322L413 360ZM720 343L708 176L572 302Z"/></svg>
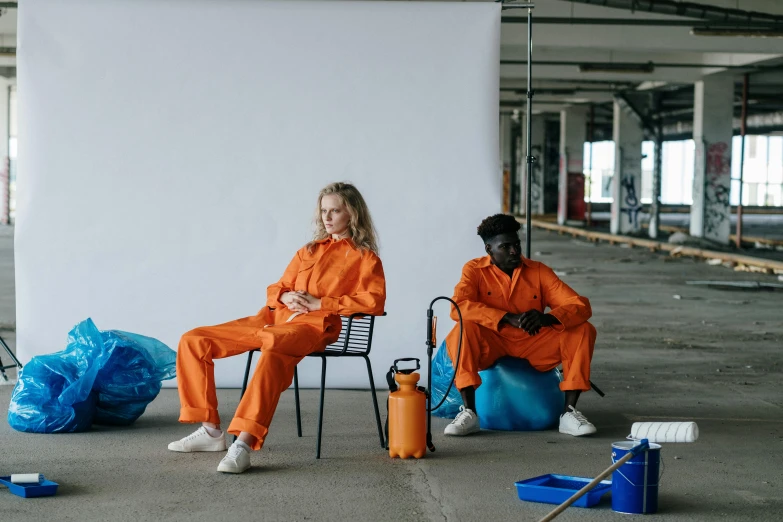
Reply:
<svg viewBox="0 0 783 522"><path fill-rule="evenodd" d="M552 506L522 502L514 481L545 473L594 476L611 443L637 420L698 422L692 444L666 444L661 521L783 520L783 292L725 291L690 280L776 281L689 259L595 245L534 231L535 256L591 299L598 329L593 380L580 409L599 432L442 436L425 459L391 460L379 447L368 392L329 390L323 458L315 460L317 392L302 395L305 436L295 436L293 397L283 395L267 445L240 476L215 471L220 455L174 454L189 432L164 390L134 426L31 435L0 422L0 474L42 472L56 497L0 490L3 520L538 520ZM10 234L0 234L0 331L13 340ZM446 290L446 289L444 289ZM679 298L674 298L679 296ZM0 354L2 356L2 354ZM3 360L7 360L4 357ZM374 362L389 364L384 354ZM5 416L11 387L0 386ZM386 394L382 393L381 397ZM237 390L221 390L230 417ZM627 520L609 496L558 520Z"/></svg>

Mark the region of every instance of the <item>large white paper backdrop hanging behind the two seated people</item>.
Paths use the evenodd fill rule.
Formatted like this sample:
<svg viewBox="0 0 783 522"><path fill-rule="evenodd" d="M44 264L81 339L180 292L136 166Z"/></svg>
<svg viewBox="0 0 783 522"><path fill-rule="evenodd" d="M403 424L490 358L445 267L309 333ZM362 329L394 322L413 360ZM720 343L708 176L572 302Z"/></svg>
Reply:
<svg viewBox="0 0 783 522"><path fill-rule="evenodd" d="M354 182L380 233L376 384L499 210L496 3L35 0L19 8L17 342L161 339L255 314ZM437 315L446 334L443 306ZM320 364L302 363L314 386ZM244 357L219 361L238 386ZM367 387L363 363L328 384Z"/></svg>

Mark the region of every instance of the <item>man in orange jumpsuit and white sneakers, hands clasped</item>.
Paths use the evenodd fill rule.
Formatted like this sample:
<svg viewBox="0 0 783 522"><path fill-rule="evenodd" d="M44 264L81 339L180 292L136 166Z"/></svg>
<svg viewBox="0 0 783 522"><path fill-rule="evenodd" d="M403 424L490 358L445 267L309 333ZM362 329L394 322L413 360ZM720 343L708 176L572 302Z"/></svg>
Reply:
<svg viewBox="0 0 783 522"><path fill-rule="evenodd" d="M527 359L539 371L563 365L565 392L560 432L590 435L596 429L576 409L582 391L590 389L590 361L596 332L587 322L590 301L561 281L551 268L522 258L520 225L497 214L481 222L478 234L487 256L468 261L454 289L463 318L462 354L455 384L464 406L446 427L446 435L478 431L475 390L479 371L503 356ZM549 308L549 313L545 310ZM455 310L451 316L459 317ZM446 337L452 362L457 357L459 325Z"/></svg>

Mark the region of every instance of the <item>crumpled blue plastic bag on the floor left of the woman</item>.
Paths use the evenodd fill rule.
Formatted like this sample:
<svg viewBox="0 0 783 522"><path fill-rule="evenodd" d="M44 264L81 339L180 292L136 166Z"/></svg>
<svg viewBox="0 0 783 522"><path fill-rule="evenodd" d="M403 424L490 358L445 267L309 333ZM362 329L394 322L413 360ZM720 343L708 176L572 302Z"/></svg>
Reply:
<svg viewBox="0 0 783 522"><path fill-rule="evenodd" d="M25 365L11 395L8 423L18 431L69 433L93 423L133 423L176 371L176 352L150 337L101 332L87 319L68 346Z"/></svg>

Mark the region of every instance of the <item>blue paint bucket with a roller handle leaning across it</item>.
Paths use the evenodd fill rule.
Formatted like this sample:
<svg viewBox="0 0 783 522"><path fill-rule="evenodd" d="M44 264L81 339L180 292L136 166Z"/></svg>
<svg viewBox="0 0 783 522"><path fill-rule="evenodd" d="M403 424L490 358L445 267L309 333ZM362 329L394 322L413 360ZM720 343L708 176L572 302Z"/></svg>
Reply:
<svg viewBox="0 0 783 522"><path fill-rule="evenodd" d="M636 441L612 443L612 462L617 462L639 444ZM643 451L612 473L612 511L645 514L658 511L658 479L661 446L650 443Z"/></svg>

